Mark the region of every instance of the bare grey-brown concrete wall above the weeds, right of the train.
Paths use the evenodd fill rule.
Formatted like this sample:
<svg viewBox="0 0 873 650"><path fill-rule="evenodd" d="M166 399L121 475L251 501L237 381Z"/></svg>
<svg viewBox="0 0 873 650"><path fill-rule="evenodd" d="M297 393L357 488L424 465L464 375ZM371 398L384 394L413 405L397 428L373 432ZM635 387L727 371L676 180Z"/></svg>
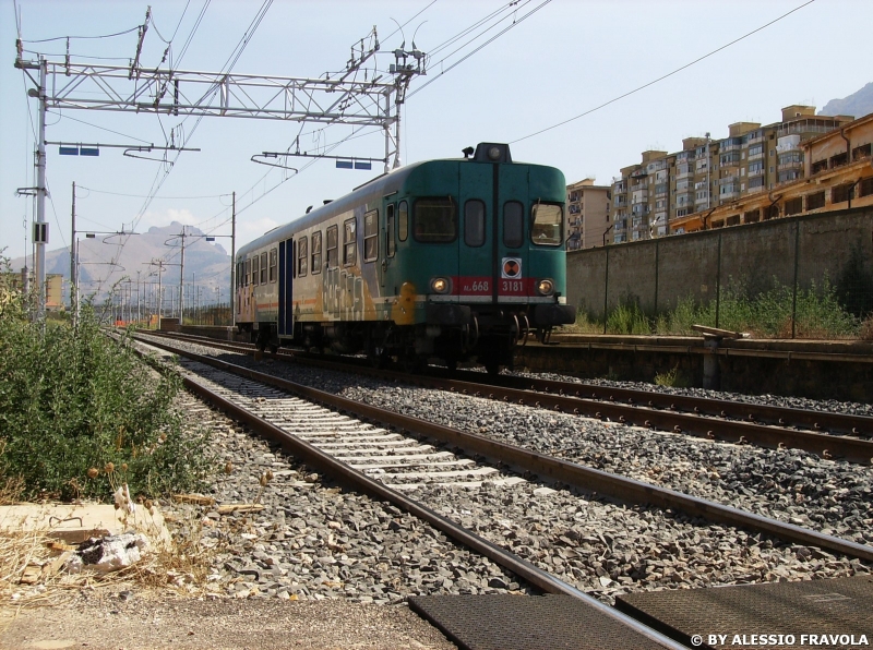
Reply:
<svg viewBox="0 0 873 650"><path fill-rule="evenodd" d="M742 284L808 289L832 284L853 252L873 273L873 207L803 215L567 252L567 302L602 320L626 300L648 315Z"/></svg>

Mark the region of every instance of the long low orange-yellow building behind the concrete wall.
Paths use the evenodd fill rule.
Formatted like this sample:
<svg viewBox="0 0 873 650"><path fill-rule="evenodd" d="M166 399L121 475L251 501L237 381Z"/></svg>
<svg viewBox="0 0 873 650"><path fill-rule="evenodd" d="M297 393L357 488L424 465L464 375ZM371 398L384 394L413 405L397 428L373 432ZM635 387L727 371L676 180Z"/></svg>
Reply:
<svg viewBox="0 0 873 650"><path fill-rule="evenodd" d="M798 142L801 165L794 167L792 159L790 169L796 173L791 180L779 182L778 176L775 176L773 178L776 180L773 185L767 185L767 191L741 192L739 197L720 202L708 210L677 218L671 222L671 229L675 226L672 231L693 232L873 205L873 113L849 122L842 121L844 116L824 118L825 123L812 122L818 119L809 118L805 124L789 124L786 128L796 130L789 135L809 133L811 127L825 131ZM827 120L838 120L838 128L830 128L833 121ZM777 137L780 128L776 127ZM779 155L777 149L773 157L778 159ZM770 173L768 169L767 174ZM775 174L778 173L777 167Z"/></svg>

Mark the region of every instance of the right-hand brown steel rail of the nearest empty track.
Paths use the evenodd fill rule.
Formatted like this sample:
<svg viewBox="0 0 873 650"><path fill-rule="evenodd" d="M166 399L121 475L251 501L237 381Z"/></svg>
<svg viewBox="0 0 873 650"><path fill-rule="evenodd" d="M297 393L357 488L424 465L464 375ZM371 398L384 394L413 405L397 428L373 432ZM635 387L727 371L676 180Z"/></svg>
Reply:
<svg viewBox="0 0 873 650"><path fill-rule="evenodd" d="M297 394L311 401L330 406L338 411L354 413L357 418L381 422L387 426L405 430L441 443L453 445L470 456L481 456L502 467L521 472L529 472L563 485L594 492L635 505L655 505L665 509L679 509L692 517L726 523L773 535L794 544L814 545L827 551L873 562L873 546L850 542L833 535L809 530L793 523L768 519L761 515L746 513L739 508L725 506L710 501L683 494L667 488L644 483L619 474L612 474L537 452L515 447L477 434L427 422L418 418L386 411L378 407L360 404L309 386L295 384L273 375L227 363L212 357L195 354L170 345L144 341L170 352L224 370L231 374L270 384L283 390Z"/></svg>

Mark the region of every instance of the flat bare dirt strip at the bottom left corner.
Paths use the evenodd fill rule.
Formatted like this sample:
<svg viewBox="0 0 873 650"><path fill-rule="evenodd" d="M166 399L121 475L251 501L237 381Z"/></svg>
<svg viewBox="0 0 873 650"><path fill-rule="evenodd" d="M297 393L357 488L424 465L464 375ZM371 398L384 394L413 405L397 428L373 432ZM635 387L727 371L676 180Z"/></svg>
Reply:
<svg viewBox="0 0 873 650"><path fill-rule="evenodd" d="M82 591L63 604L0 607L0 648L452 650L405 605L342 600L178 599Z"/></svg>

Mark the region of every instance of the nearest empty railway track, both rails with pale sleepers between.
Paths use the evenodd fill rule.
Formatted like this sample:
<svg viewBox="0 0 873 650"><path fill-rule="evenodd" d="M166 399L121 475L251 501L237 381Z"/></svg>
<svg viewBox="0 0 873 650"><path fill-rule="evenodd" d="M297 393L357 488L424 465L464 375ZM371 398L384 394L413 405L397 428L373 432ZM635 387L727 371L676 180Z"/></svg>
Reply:
<svg viewBox="0 0 873 650"><path fill-rule="evenodd" d="M620 634L624 635L621 637L622 647L680 646L671 645L673 642L669 639L653 633L626 615L619 616L614 610L543 570L542 566L504 551L499 545L500 542L495 543L493 538L489 541L488 537L482 538L470 532L453 520L456 518L455 515L450 519L438 514L433 507L421 503L421 494L434 485L475 489L482 481L488 481L491 486L505 489L507 498L515 498L519 488L523 489L524 495L530 497L537 492L531 491L533 485L525 489L525 485L529 485L528 481L517 476L526 473L528 480L543 477L564 485L596 491L598 495L609 494L625 503L656 504L671 511L684 510L693 517L702 517L709 521L765 531L768 535L788 542L809 544L868 562L873 561L873 549L862 544L845 542L622 477L579 468L561 459L512 448L509 445L463 434L393 411L381 411L374 407L342 399L336 395L262 375L250 369L234 368L232 364L212 357L199 358L166 344L162 344L162 347L172 349L174 353L180 357L196 359L193 362L183 361L183 365L189 370L198 366L198 374L201 376L194 382L188 380L187 383L191 382L189 387L222 409L234 412L236 419L244 421L267 437L279 441L295 457L302 459L307 465L321 468L328 476L340 477L343 482L388 499L404 510L429 521L458 543L493 559L537 589L546 593L562 594L561 598L575 599L586 607L594 607L598 615L602 614L609 619L610 625L620 626L622 630ZM227 372L234 374L228 376ZM213 380L224 377L220 381L225 387L210 390L203 386L208 381L204 377ZM290 393L295 396L289 396ZM249 408L240 408L238 404L234 404L240 401L240 396L242 401L249 402ZM432 441L439 444L434 445ZM440 448L440 445L443 445L443 448ZM445 445L453 450L445 450ZM470 457L474 457L474 460ZM548 493L552 492L545 488L537 490L542 491L541 493L547 495L546 498ZM405 493L410 491L414 492L411 497L406 496ZM464 523L469 526L469 521ZM444 597L436 598L439 600ZM424 599L423 603L418 602L420 600L412 599L416 601L412 605L417 610L419 606L427 609L428 599ZM551 609L557 601L550 602ZM651 624L650 621L648 623ZM639 639L642 645L636 646Z"/></svg>

